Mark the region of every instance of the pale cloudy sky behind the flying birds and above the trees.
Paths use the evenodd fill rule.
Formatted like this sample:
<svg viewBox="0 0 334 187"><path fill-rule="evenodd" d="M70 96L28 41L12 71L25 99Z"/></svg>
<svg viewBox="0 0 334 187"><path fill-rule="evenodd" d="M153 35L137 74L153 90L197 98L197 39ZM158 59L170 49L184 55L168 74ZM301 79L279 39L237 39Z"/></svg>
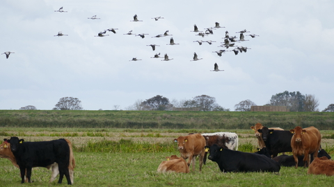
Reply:
<svg viewBox="0 0 334 187"><path fill-rule="evenodd" d="M55 12L61 7L67 12ZM87 110L130 109L157 95L180 101L205 94L234 111L242 100L266 105L273 95L300 91L314 95L321 111L334 103L333 7L331 0L4 0L0 53L15 53L0 55L0 109L52 109L63 97ZM225 28L205 37L191 32L215 22ZM108 28L118 30L95 37ZM225 31L239 39L244 29L249 41L235 45L246 53L219 47ZM148 35L124 35L129 30ZM172 36L154 37L166 30ZM178 45L167 45L170 37ZM213 53L221 49L221 57ZM151 58L156 53L173 60ZM191 61L193 53L202 60ZM214 63L224 71L211 71Z"/></svg>

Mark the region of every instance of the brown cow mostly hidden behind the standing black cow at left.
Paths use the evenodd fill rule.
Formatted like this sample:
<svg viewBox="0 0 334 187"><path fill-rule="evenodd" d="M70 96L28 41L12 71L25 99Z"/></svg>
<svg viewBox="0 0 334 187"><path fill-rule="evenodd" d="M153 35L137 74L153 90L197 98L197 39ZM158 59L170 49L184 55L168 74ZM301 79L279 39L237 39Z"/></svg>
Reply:
<svg viewBox="0 0 334 187"><path fill-rule="evenodd" d="M67 144L70 147L70 164L68 166L68 169L70 172L71 182L73 184L74 182L74 171L73 170L75 168L75 160L73 157L72 143L67 139L65 139L65 141L67 141ZM13 152L10 150L10 143L6 141L3 141L3 143L0 145L0 158L10 160L16 168L19 168L19 166L16 163L15 156ZM47 168L48 170L51 168L52 174L51 174L51 179L49 182L54 181L54 179L56 179L57 175L59 174L58 163L53 163L45 168ZM28 179L26 178L25 181L27 182Z"/></svg>

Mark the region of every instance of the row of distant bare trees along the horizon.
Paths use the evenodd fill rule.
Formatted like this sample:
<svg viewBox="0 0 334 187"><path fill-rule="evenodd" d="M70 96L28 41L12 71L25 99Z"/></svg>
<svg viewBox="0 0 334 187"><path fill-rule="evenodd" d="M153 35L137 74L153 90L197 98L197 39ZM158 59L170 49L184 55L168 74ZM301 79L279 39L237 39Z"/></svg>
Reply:
<svg viewBox="0 0 334 187"><path fill-rule="evenodd" d="M247 99L242 100L238 104L234 105L234 111L248 112L251 106L256 104ZM286 106L290 112L319 112L319 100L312 94L301 94L299 91L283 91L282 93L271 96L269 103L270 106ZM120 105L113 105L114 109L120 108ZM34 110L37 109L33 105L21 107L22 110ZM82 110L81 100L73 97L61 98L53 108L54 110ZM127 110L177 110L177 109L189 109L198 110L203 112L209 111L225 111L226 109L216 103L216 98L207 95L196 96L191 100L176 100L170 101L164 96L154 96L146 100L137 100L134 105L127 107ZM100 109L102 110L102 109ZM328 105L322 112L334 112L334 104Z"/></svg>

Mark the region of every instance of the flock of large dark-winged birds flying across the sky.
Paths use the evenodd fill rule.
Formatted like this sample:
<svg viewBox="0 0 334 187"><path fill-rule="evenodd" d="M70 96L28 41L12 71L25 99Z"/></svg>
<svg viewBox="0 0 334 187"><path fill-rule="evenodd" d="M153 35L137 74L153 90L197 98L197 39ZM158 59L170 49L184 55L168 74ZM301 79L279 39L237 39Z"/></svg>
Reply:
<svg viewBox="0 0 334 187"><path fill-rule="evenodd" d="M67 11L63 10L63 7L61 7L61 8L59 8L59 10L54 10L54 12L67 12ZM98 18L97 15L94 15L93 17L88 17L88 19L101 19L101 18ZM152 17L152 19L154 19L155 21L158 21L159 19L164 19L164 17ZM138 16L134 15L134 19L131 20L131 21L143 21L143 20L139 20ZM217 28L225 28L225 27L220 26L219 23L216 22L214 27L205 28L205 31L200 31L200 30L198 30L198 26L196 26L196 24L195 24L193 26L193 30L191 30L191 32L198 33L197 35L200 36L200 37L205 37L207 35L213 35L214 34L213 30L217 29ZM118 30L118 28L108 28L108 29L98 33L97 35L95 35L95 37L109 36L109 35L106 34L107 31L116 34L116 30ZM171 36L170 34L168 34L168 32L169 32L169 30L166 30L166 32L164 34L155 35L153 37L168 37L168 36ZM232 51L234 52L234 55L238 55L238 53L242 53L242 52L246 53L247 49L250 49L250 48L247 48L247 47L244 47L244 46L237 46L235 44L236 44L236 42L249 41L248 39L245 39L245 34L250 33L250 32L248 30L244 29L244 30L241 30L241 31L236 32L236 33L239 33L239 35L240 35L239 39L236 36L230 36L228 31L225 31L225 37L223 37L224 42L221 42L222 44L219 46L219 47L223 47L225 49L221 49L221 50L218 50L218 51L213 51L212 53L216 53L218 56L221 57L221 55L223 53L227 52L228 48L230 48L230 47L231 48L234 47L234 49L232 49ZM135 35L135 36L139 36L141 38L145 38L145 35L148 35L148 34L141 33L141 34L136 35L136 34L132 33L132 30L130 30L128 33L125 33L124 35ZM58 34L54 35L54 36L61 37L61 36L67 36L67 35L64 35L61 31L59 31ZM258 37L259 35L250 34L250 35L247 35L247 36L250 36L250 37L254 38L254 37ZM202 45L203 42L207 42L209 45L212 45L212 43L216 42L216 41L212 41L212 40L203 41L203 40L198 39L198 40L193 41L193 42L198 42L199 45ZM179 45L179 44L174 42L173 37L170 37L169 44L167 44L167 45L173 46L173 45ZM156 46L159 46L159 45L150 44L150 45L147 45L147 46L151 46L152 50L155 51ZM8 58L11 53L14 53L14 52L6 51L6 52L2 53L1 55L6 54L6 58ZM160 57L160 53L156 53L151 58L164 58L164 60L161 60L161 61L173 60L173 58L168 57L167 53L164 55L164 57ZM141 59L137 59L136 57L133 57L132 60L129 60L129 61L138 61L138 60L141 60ZM198 61L198 60L202 60L202 58L198 58L198 55L196 53L193 53L193 60L191 60L191 61ZM214 70L210 70L210 71L224 71L224 70L218 69L218 64L215 63L214 64Z"/></svg>

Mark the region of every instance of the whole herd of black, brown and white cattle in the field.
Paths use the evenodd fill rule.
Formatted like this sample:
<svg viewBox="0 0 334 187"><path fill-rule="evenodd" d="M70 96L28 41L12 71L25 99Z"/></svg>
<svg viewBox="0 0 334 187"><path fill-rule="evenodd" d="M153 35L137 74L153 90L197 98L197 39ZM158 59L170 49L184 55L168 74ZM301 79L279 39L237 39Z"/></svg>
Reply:
<svg viewBox="0 0 334 187"><path fill-rule="evenodd" d="M321 134L317 128L283 130L264 127L261 123L250 128L258 139L258 152L238 151L238 136L232 132L189 134L174 139L181 157L166 157L167 161L162 161L157 171L188 173L190 165L195 170L196 157L199 156L200 171L208 158L218 164L221 172L279 172L280 166L304 166L308 167L308 174L334 175L334 161L321 149ZM283 154L278 156L278 153ZM67 139L24 142L24 139L13 136L4 139L0 145L0 157L9 159L19 168L22 183L31 182L33 167L51 168L50 182L58 174L59 184L64 175L67 184L74 182L75 161L72 143Z"/></svg>

